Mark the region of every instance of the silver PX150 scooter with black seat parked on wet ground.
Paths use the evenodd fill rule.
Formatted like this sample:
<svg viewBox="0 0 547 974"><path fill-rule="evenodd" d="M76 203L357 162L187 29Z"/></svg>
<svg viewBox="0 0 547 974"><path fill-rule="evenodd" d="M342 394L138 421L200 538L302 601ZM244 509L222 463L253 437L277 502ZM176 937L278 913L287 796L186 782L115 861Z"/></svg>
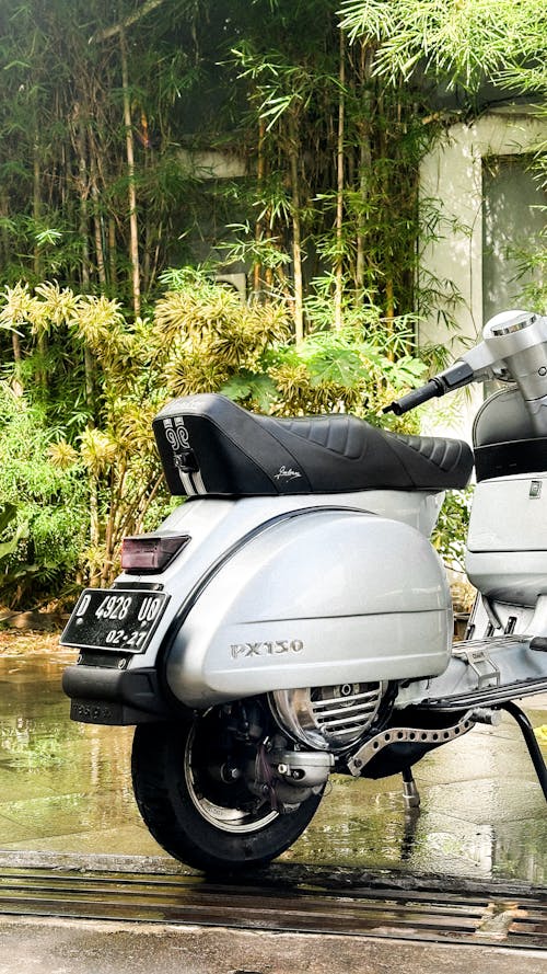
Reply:
<svg viewBox="0 0 547 974"><path fill-rule="evenodd" d="M80 596L61 642L73 720L136 724L142 817L173 856L234 871L300 836L333 772L403 775L500 710L547 769L515 699L547 690L547 318L509 311L403 413L475 380L479 409L467 570L478 589L452 644L430 535L465 486L461 440L351 415L278 420L218 394L154 421L165 477L187 497L124 542L108 591Z"/></svg>

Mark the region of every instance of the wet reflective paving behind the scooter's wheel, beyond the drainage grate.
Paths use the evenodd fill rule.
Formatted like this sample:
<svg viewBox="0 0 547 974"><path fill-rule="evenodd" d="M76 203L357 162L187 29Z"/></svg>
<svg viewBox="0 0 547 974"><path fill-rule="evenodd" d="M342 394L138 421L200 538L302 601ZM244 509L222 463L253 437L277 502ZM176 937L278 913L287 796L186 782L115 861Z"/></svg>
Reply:
<svg viewBox="0 0 547 974"><path fill-rule="evenodd" d="M66 657L0 658L0 850L166 856L137 811L131 727L69 720ZM547 723L547 697L526 704ZM291 862L547 882L545 800L504 715L415 769L421 809L405 816L400 778L335 777Z"/></svg>

